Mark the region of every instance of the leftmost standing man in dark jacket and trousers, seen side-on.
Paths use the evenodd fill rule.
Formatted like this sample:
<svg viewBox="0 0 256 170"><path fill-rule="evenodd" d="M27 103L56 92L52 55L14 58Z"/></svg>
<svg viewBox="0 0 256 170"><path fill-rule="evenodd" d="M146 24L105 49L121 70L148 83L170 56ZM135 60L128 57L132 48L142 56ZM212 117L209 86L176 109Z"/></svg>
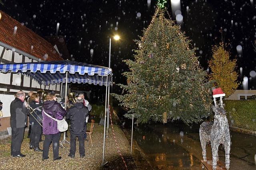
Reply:
<svg viewBox="0 0 256 170"><path fill-rule="evenodd" d="M20 152L24 137L25 127L27 126L27 115L29 113L24 100L26 94L22 91L17 92L16 98L10 104L10 125L12 128L11 155L13 157L24 157Z"/></svg>

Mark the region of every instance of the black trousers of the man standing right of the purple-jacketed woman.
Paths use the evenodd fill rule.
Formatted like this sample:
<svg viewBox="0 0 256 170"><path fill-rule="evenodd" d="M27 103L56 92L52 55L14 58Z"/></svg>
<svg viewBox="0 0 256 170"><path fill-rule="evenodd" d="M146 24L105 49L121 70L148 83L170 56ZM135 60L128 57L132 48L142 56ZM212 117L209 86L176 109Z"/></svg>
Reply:
<svg viewBox="0 0 256 170"><path fill-rule="evenodd" d="M84 135L74 135L72 133L70 133L70 151L69 153L71 155L75 155L76 154L76 137L78 137L79 140L79 153L80 155L84 155Z"/></svg>

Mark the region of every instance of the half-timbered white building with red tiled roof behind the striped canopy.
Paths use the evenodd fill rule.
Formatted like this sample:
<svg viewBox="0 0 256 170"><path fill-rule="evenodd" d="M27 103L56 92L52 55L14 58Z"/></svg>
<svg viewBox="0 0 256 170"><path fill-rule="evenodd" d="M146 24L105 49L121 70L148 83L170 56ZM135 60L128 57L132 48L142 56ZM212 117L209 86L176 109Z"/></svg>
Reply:
<svg viewBox="0 0 256 170"><path fill-rule="evenodd" d="M48 41L0 11L0 62L26 63L63 60ZM10 127L10 103L14 94L46 89L60 94L60 85L40 86L35 80L15 73L0 73L0 100L3 103L3 117L0 117L0 131ZM7 131L6 131L7 132Z"/></svg>

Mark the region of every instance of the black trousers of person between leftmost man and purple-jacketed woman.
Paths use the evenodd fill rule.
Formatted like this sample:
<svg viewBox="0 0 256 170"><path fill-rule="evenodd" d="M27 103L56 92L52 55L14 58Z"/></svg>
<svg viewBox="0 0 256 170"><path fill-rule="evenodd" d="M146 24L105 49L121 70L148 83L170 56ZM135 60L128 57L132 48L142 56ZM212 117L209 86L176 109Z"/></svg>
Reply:
<svg viewBox="0 0 256 170"><path fill-rule="evenodd" d="M39 147L40 135L42 133L41 125L35 121L31 123L30 145Z"/></svg>

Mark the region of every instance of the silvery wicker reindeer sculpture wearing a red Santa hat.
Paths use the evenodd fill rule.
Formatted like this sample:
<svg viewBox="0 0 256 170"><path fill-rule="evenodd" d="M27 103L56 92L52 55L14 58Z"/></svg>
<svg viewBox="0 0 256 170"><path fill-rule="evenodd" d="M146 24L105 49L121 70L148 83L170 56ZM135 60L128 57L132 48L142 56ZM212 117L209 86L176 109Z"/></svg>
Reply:
<svg viewBox="0 0 256 170"><path fill-rule="evenodd" d="M221 90L222 92L222 90ZM223 92L221 93L224 94ZM225 95L225 94L224 94ZM220 106L216 104L216 96L214 97L214 104L212 109L215 113L214 122L204 122L200 125L199 135L202 146L202 155L206 161L206 144L210 143L212 147L212 168L215 170L218 160L218 147L220 144L224 146L225 150L225 164L226 169L230 167L230 133L228 127L228 119L226 111L222 104L222 96L220 97Z"/></svg>

